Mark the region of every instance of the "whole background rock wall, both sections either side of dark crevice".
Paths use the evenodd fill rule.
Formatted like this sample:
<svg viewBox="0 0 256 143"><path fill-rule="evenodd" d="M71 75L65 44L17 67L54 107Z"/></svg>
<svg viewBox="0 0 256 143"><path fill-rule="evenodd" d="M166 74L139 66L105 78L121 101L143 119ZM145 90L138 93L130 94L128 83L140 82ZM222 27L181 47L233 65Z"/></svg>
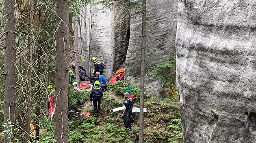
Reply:
<svg viewBox="0 0 256 143"><path fill-rule="evenodd" d="M175 52L177 0L147 1L146 71L163 61L169 61ZM128 9L129 2L135 5ZM107 79L117 69L126 68L126 82L139 85L141 67L142 16L140 0L119 0L111 10L101 4L86 6L80 17L78 49L87 57L104 61ZM125 8L126 6L126 8ZM131 6L132 7L132 6ZM130 7L130 8L131 8ZM81 58L88 73L93 64ZM146 91L167 96L168 87L154 76L146 76Z"/></svg>

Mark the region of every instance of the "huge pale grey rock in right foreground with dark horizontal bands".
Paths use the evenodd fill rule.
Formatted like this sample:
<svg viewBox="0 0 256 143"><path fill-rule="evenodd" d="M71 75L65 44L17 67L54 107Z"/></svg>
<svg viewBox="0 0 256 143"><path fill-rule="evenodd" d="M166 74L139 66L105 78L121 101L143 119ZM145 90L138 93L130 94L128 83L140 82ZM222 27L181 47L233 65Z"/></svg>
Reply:
<svg viewBox="0 0 256 143"><path fill-rule="evenodd" d="M184 143L256 143L255 29L255 0L179 0Z"/></svg>

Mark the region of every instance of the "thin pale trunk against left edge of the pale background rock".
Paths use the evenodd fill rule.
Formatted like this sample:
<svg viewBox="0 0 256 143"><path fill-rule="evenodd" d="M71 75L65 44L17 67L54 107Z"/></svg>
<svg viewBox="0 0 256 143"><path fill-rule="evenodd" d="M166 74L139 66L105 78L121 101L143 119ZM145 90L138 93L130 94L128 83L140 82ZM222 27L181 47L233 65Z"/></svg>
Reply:
<svg viewBox="0 0 256 143"><path fill-rule="evenodd" d="M74 40L74 51L78 52L78 26L77 26L77 23L78 23L78 18L77 17L74 17L74 36L75 36L75 40ZM78 88L80 88L80 80L79 80L79 71L78 71L78 61L79 61L79 57L78 57L78 54L75 53L75 67L76 67L76 82L78 83Z"/></svg>

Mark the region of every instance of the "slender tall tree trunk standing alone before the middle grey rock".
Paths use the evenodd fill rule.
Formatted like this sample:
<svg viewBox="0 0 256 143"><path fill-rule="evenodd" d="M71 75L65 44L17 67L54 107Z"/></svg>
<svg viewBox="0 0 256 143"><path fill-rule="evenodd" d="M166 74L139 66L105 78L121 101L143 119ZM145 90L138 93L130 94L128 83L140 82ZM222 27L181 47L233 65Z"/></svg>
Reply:
<svg viewBox="0 0 256 143"><path fill-rule="evenodd" d="M142 42L141 42L141 93L139 112L139 143L144 141L144 87L145 87L145 48L146 48L146 0L143 0L142 10Z"/></svg>

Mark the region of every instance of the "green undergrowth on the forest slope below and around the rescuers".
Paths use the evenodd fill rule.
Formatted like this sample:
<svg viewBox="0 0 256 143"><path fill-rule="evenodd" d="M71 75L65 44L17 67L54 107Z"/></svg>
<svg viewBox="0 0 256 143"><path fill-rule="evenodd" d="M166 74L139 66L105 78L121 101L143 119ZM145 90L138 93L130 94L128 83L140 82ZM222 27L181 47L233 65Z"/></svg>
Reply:
<svg viewBox="0 0 256 143"><path fill-rule="evenodd" d="M108 84L108 92L102 97L102 109L98 117L80 117L69 120L69 143L138 143L139 142L139 113L133 113L135 122L132 131L124 128L123 111L111 113L110 110L123 106L124 91L131 90L135 97L133 107L139 108L139 89L128 84ZM88 98L86 98L88 100ZM87 111L93 112L92 103ZM178 102L172 99L160 99L145 93L144 142L145 143L182 143L180 113ZM85 111L85 109L82 109ZM53 122L53 121L52 121ZM53 134L52 128L41 135L46 139ZM49 141L52 143L53 141Z"/></svg>

